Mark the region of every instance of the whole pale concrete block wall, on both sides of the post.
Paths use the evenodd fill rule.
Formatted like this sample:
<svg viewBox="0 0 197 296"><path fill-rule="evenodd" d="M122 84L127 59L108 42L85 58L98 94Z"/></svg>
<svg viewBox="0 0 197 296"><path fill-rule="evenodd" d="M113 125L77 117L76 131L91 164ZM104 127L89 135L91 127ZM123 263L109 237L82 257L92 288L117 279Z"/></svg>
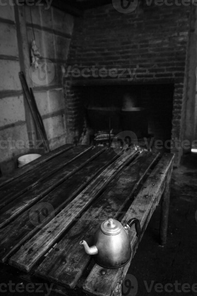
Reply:
<svg viewBox="0 0 197 296"><path fill-rule="evenodd" d="M73 31L74 17L51 7L25 6L23 19L28 48L25 54L30 65L30 48L33 38L30 18L32 11L36 44L42 59L50 60L55 69L52 82L37 85L27 77L29 87L33 87L38 109L42 115L51 150L66 143L66 118L61 65L66 64ZM0 8L0 168L3 174L17 167L17 158L30 149L30 131L27 124L30 114L25 108L25 98L18 73L22 70L20 60L21 40L17 37L17 21L14 6ZM27 75L27 74L26 74ZM27 104L27 102L26 102ZM34 133L34 131L33 131ZM23 144L20 143L20 140ZM32 146L33 147L33 146ZM43 150L40 151L41 154Z"/></svg>

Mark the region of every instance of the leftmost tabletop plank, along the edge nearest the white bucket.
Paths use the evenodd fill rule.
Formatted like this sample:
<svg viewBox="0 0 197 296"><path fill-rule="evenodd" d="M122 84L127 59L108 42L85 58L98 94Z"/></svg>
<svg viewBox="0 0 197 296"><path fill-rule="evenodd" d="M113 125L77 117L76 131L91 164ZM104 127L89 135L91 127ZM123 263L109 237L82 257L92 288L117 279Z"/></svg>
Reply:
<svg viewBox="0 0 197 296"><path fill-rule="evenodd" d="M35 169L36 167L39 167L43 165L45 162L49 161L50 159L58 156L59 154L66 152L67 150L71 149L74 145L73 144L66 144L64 146L61 146L45 155L42 157L39 157L32 162L26 164L25 166L16 169L13 173L3 176L0 178L0 187L3 185L11 182L12 180L26 174L27 172L30 172L31 170Z"/></svg>

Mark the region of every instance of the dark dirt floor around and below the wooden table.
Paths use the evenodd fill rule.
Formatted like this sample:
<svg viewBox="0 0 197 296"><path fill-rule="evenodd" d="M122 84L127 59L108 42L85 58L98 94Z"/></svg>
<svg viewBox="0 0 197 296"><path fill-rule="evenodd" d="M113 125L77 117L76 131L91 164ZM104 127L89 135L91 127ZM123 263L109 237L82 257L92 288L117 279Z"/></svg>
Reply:
<svg viewBox="0 0 197 296"><path fill-rule="evenodd" d="M167 245L158 243L160 206L155 210L123 284L122 295L197 295L197 155L174 168ZM0 273L0 283L25 283ZM196 285L195 285L196 284ZM2 287L4 288L4 287ZM36 287L39 288L39 287ZM43 290L41 288L40 290ZM77 291L76 291L77 292ZM0 292L2 295L60 295L53 291ZM76 294L77 295L77 294ZM77 295L78 296L78 295Z"/></svg>

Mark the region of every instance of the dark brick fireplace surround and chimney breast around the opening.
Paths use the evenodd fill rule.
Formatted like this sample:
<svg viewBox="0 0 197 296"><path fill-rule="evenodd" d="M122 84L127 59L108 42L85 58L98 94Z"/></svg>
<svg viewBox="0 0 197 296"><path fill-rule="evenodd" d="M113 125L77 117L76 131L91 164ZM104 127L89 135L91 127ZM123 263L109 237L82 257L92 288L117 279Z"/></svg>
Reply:
<svg viewBox="0 0 197 296"><path fill-rule="evenodd" d="M149 92L153 89L156 92L156 86L160 86L160 89L171 87L173 94L170 98L167 95L166 105L163 104L165 98L162 97L159 108L161 93L158 92L157 101L156 95L154 98L159 116L168 116L167 128L170 128L171 135L168 130L165 137L170 136L173 140L175 162L180 162L182 150L176 147L175 142L183 140L185 124L191 9L191 6L183 5L157 6L153 2L148 6L139 1L132 13L120 13L109 4L86 10L83 17L77 18L67 66L71 66L71 70L77 68L80 75L77 78L76 75L70 75L64 79L67 142L79 143L83 133L83 86L95 86L95 92L99 87L118 85L130 87L130 91L132 87L143 87ZM86 78L81 75L84 68L90 69L92 66L107 69L107 76ZM128 74L124 77L120 75L122 68L129 68L134 73L132 80ZM116 77L109 75L110 69L117 70ZM141 99L140 104L148 102ZM154 104L153 99L151 104ZM154 105L152 107L154 110ZM154 129L151 126L149 128ZM159 134L157 137L159 138Z"/></svg>

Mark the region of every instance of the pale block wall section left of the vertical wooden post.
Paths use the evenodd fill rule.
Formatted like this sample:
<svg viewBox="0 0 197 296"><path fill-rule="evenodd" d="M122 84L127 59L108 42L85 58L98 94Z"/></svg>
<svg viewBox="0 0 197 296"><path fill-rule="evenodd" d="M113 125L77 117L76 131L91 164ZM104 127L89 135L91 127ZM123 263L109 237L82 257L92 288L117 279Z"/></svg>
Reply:
<svg viewBox="0 0 197 296"><path fill-rule="evenodd" d="M18 140L28 141L20 71L14 8L0 9L0 163L2 172L14 169L20 149Z"/></svg>

